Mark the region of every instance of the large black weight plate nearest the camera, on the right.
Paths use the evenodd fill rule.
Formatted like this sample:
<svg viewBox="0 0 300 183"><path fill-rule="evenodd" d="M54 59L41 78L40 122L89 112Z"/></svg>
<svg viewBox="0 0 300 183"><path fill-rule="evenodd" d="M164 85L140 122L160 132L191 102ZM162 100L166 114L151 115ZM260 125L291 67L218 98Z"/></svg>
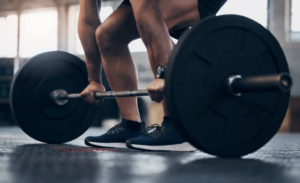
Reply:
<svg viewBox="0 0 300 183"><path fill-rule="evenodd" d="M246 17L210 17L184 33L170 57L166 101L176 127L200 150L243 156L267 143L285 116L290 93L232 97L225 79L289 72L274 36Z"/></svg>

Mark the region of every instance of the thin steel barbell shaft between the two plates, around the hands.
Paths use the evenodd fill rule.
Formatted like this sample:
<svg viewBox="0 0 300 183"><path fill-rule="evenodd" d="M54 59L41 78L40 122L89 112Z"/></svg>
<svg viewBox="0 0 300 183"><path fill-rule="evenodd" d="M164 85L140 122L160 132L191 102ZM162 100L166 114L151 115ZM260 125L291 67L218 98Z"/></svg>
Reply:
<svg viewBox="0 0 300 183"><path fill-rule="evenodd" d="M118 97L139 97L139 96L148 96L147 90L128 90L128 91L109 91L103 93L95 93L95 98L118 98ZM80 99L80 94L60 94L58 96L60 100L69 100L69 99Z"/></svg>

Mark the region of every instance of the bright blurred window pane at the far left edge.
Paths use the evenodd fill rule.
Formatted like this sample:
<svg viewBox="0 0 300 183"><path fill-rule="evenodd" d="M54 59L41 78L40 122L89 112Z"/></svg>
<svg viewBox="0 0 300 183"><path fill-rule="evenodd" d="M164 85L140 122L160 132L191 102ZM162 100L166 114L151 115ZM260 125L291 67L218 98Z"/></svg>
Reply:
<svg viewBox="0 0 300 183"><path fill-rule="evenodd" d="M0 17L0 57L14 58L18 46L18 16Z"/></svg>

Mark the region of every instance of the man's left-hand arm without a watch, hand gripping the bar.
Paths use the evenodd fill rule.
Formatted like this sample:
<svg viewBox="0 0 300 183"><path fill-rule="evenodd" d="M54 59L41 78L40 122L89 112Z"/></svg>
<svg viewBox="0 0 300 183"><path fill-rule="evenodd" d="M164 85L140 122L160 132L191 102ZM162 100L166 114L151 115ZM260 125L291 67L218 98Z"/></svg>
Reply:
<svg viewBox="0 0 300 183"><path fill-rule="evenodd" d="M85 102L100 104L103 99L96 100L95 92L104 92L101 81L102 62L97 45L95 31L100 25L101 0L79 0L78 36L81 41L90 84L81 92Z"/></svg>

